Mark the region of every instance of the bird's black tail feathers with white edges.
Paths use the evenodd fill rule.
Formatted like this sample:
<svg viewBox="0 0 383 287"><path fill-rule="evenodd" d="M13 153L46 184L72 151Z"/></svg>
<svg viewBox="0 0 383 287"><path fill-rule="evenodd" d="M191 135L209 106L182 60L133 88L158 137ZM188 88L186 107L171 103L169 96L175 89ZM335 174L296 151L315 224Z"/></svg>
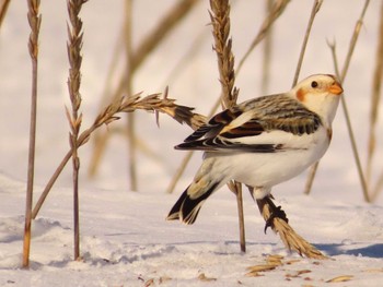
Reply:
<svg viewBox="0 0 383 287"><path fill-rule="evenodd" d="M189 187L187 187L187 189L183 192L177 202L174 204L166 219L179 219L181 222L188 225L194 224L197 219L198 213L204 202L217 189L219 183L220 182L213 182L212 184L209 184L208 189L205 192L201 192L200 195L197 198L192 198L190 194L188 194L188 190L193 184L192 183Z"/></svg>

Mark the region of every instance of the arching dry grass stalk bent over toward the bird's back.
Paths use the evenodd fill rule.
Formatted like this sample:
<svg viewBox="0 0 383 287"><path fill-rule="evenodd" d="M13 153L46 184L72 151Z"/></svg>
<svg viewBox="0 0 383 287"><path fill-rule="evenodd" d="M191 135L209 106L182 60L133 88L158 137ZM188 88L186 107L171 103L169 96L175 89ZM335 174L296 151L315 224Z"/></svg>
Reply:
<svg viewBox="0 0 383 287"><path fill-rule="evenodd" d="M80 147L86 142L89 142L91 135L102 125L109 124L118 120L118 113L134 112L136 110L158 111L166 113L179 123L188 124L192 129L197 129L197 127L200 127L206 122L206 118L201 115L194 113L193 108L176 105L175 100L171 98L161 99L159 97L159 94L149 95L144 98L140 98L139 94L131 97L123 96L114 103L112 103L111 105L108 105L98 113L93 124L79 135L77 146ZM62 169L65 168L71 156L72 152L69 151L62 158L54 175L50 177L48 183L46 184L43 193L40 194L33 210L33 218L36 218L53 186L55 184L57 178L61 174Z"/></svg>

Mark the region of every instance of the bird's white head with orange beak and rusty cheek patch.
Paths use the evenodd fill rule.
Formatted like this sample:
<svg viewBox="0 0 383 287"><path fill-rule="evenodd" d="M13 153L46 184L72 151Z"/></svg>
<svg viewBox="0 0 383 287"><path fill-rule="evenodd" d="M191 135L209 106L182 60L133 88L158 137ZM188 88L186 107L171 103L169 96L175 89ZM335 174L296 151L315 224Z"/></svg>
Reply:
<svg viewBox="0 0 383 287"><path fill-rule="evenodd" d="M291 92L293 97L321 116L329 125L344 89L334 75L315 74L298 83Z"/></svg>

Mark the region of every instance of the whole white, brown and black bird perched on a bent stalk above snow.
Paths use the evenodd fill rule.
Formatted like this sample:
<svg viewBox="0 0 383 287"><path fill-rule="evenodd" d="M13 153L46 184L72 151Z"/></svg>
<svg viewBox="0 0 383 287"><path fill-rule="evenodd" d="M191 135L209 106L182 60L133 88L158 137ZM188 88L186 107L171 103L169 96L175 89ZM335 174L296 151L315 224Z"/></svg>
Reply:
<svg viewBox="0 0 383 287"><path fill-rule="evenodd" d="M268 199L274 186L325 154L341 94L334 75L316 74L288 93L251 99L212 117L175 146L205 154L167 219L193 224L202 203L230 180L252 187L255 200Z"/></svg>

